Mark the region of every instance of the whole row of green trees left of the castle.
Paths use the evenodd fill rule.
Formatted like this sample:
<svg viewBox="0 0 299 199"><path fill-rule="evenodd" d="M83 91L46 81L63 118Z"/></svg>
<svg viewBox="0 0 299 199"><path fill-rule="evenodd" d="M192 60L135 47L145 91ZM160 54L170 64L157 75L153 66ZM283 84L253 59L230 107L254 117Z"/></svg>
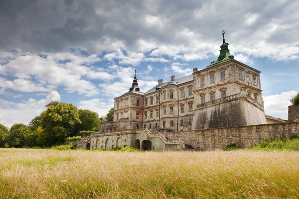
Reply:
<svg viewBox="0 0 299 199"><path fill-rule="evenodd" d="M8 129L0 124L0 148L51 147L63 144L67 137L77 136L80 131L94 132L100 129L97 112L58 101L52 101L46 107L28 125L15 123ZM113 111L112 108L102 118L113 121Z"/></svg>

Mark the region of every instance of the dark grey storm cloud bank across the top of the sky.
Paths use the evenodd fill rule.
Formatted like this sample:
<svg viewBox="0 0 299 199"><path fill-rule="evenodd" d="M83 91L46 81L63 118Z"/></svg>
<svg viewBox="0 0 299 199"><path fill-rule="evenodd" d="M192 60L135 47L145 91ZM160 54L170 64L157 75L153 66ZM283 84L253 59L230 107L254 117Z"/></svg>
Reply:
<svg viewBox="0 0 299 199"><path fill-rule="evenodd" d="M221 42L222 25L227 41L240 46L295 45L298 8L291 0L2 0L0 49L138 51L143 40L198 53Z"/></svg>

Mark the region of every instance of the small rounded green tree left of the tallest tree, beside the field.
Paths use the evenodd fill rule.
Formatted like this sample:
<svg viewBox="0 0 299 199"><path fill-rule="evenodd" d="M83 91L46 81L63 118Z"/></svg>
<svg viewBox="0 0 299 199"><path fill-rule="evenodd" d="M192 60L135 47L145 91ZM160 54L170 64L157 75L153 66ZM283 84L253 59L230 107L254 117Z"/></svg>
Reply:
<svg viewBox="0 0 299 199"><path fill-rule="evenodd" d="M6 141L10 147L22 148L35 146L35 139L35 134L29 126L16 123L11 126Z"/></svg>

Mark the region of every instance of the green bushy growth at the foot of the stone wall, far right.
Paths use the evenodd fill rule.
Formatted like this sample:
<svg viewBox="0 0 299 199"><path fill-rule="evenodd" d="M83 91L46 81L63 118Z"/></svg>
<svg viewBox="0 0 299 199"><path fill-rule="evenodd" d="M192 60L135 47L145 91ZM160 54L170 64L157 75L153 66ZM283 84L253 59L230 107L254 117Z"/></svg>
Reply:
<svg viewBox="0 0 299 199"><path fill-rule="evenodd" d="M299 151L298 136L275 138L271 140L264 140L260 144L252 147L253 150L289 150Z"/></svg>

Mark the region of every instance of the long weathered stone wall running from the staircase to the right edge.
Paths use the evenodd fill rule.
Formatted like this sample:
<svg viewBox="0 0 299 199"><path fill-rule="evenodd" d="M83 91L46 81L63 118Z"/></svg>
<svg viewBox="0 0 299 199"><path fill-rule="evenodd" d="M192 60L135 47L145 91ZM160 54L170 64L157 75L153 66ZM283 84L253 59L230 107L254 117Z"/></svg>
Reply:
<svg viewBox="0 0 299 199"><path fill-rule="evenodd" d="M223 149L231 143L250 148L264 139L299 135L299 122L163 132L162 134L166 138L181 139L185 144L199 150Z"/></svg>

